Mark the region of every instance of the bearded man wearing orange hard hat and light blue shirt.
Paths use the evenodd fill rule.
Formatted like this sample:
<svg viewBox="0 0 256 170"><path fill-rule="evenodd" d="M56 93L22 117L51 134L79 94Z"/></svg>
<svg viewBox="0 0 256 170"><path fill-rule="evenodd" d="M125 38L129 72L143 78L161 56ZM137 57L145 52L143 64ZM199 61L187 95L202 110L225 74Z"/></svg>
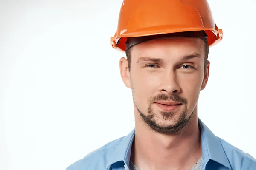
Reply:
<svg viewBox="0 0 256 170"><path fill-rule="evenodd" d="M134 100L135 129L67 170L256 170L249 154L197 116L209 46L222 39L206 0L125 0L114 48Z"/></svg>

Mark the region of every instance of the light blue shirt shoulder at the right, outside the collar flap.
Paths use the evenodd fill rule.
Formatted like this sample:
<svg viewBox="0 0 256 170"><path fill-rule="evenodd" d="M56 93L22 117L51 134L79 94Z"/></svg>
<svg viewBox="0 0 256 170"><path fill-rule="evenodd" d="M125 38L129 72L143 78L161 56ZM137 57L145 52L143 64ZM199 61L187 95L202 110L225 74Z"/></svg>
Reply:
<svg viewBox="0 0 256 170"><path fill-rule="evenodd" d="M226 153L227 159L229 160L231 166L236 165L236 167L237 166L241 168L243 167L243 169L247 168L248 170L256 170L256 159L254 159L253 156L233 146L232 144L228 143L224 139L221 139L219 137L218 139L222 144L224 152Z"/></svg>

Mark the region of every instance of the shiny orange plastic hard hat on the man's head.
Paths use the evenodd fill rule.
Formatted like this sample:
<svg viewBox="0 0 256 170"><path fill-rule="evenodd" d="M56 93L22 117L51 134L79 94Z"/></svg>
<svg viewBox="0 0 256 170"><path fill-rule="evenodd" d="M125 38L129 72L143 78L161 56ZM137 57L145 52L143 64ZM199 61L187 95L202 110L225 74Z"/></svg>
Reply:
<svg viewBox="0 0 256 170"><path fill-rule="evenodd" d="M223 37L207 0L124 0L111 45L125 51L127 37L202 30L209 46Z"/></svg>

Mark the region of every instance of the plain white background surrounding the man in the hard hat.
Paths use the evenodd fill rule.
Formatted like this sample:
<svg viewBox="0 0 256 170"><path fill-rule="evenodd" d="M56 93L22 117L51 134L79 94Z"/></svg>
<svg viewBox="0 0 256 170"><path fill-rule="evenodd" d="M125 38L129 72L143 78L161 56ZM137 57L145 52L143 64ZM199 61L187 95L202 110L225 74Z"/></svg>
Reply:
<svg viewBox="0 0 256 170"><path fill-rule="evenodd" d="M122 0L0 0L0 170L65 170L134 127L111 48ZM209 0L224 39L210 48L198 116L256 157L255 0Z"/></svg>

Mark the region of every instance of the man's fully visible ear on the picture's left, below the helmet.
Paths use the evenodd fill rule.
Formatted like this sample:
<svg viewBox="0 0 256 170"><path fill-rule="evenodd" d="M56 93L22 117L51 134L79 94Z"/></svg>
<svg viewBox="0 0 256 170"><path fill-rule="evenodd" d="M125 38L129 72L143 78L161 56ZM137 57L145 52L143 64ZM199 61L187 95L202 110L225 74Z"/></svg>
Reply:
<svg viewBox="0 0 256 170"><path fill-rule="evenodd" d="M131 88L131 79L130 79L130 71L128 68L128 60L124 57L120 59L119 62L120 74L122 77L122 81L125 83L125 86Z"/></svg>

